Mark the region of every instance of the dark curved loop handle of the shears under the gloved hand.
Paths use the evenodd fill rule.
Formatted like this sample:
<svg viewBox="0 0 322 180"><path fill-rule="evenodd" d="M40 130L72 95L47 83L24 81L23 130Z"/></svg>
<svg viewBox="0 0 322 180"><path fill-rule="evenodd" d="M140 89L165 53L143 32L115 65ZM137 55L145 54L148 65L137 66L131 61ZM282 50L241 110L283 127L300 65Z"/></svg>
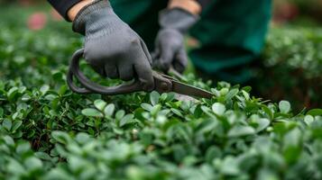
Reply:
<svg viewBox="0 0 322 180"><path fill-rule="evenodd" d="M78 94L106 94L106 95L116 95L116 94L129 94L138 91L143 91L142 85L139 80L134 80L133 83L124 83L122 85L106 87L103 85L98 85L91 82L79 69L79 61L84 55L84 49L78 49L69 65L69 73L67 75L67 83L69 88ZM84 88L80 88L73 84L73 76L75 76L80 85Z"/></svg>

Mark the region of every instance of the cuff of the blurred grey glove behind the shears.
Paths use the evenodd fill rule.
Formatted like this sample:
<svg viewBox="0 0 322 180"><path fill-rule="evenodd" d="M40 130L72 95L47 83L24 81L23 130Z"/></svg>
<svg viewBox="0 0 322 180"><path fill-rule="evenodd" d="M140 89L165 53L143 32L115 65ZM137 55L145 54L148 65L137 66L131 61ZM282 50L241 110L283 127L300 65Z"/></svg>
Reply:
<svg viewBox="0 0 322 180"><path fill-rule="evenodd" d="M175 29L186 33L199 20L198 15L190 14L188 11L176 7L166 9L159 14L159 23L163 29Z"/></svg>

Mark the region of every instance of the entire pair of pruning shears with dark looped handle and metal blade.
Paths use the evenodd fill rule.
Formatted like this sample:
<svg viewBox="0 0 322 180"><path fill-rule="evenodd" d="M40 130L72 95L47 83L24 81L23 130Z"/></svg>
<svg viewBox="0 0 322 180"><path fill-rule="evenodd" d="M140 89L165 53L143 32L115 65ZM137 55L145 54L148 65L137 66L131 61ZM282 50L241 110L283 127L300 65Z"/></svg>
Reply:
<svg viewBox="0 0 322 180"><path fill-rule="evenodd" d="M124 83L122 85L117 86L103 86L98 85L92 81L90 81L79 69L80 59L83 57L84 49L78 49L73 57L71 58L71 62L69 65L69 72L67 75L67 83L69 88L78 94L105 94L105 95L117 95L117 94L130 94L134 92L143 91L143 87L139 80L133 80L131 83ZM175 70L171 70L176 72ZM177 73L176 73L177 74ZM179 74L179 73L178 73ZM78 87L73 84L73 77L78 79L78 82L83 87ZM201 97L211 99L214 94L207 92L198 87L187 85L179 82L175 78L171 76L167 76L161 74L157 71L152 71L152 76L154 78L154 91L158 93L170 93L174 92L177 94L184 94L193 97Z"/></svg>

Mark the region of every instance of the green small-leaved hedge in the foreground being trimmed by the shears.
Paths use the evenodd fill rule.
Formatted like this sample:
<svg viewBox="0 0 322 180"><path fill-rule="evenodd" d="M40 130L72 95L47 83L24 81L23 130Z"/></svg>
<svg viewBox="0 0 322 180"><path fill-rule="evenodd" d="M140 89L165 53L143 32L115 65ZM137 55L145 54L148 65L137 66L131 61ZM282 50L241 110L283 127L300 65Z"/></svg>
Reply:
<svg viewBox="0 0 322 180"><path fill-rule="evenodd" d="M65 74L80 46L63 29L0 31L0 179L322 178L321 109L190 74L213 99L72 94Z"/></svg>

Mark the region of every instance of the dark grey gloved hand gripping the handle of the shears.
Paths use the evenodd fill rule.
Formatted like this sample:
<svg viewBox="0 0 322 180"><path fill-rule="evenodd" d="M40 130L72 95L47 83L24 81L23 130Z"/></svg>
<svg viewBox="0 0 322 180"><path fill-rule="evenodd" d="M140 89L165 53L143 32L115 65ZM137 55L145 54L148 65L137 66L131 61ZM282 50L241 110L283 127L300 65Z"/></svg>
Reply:
<svg viewBox="0 0 322 180"><path fill-rule="evenodd" d="M73 22L73 31L86 36L84 58L101 76L124 81L137 77L144 90L152 90L151 55L107 0L96 0L82 8Z"/></svg>

